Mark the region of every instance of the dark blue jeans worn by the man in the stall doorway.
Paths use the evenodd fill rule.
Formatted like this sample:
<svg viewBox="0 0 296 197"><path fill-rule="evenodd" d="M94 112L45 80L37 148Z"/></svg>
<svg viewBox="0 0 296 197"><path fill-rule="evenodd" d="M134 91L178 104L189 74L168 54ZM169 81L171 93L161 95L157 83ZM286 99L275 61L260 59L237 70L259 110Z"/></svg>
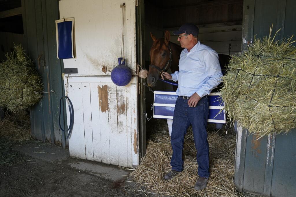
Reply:
<svg viewBox="0 0 296 197"><path fill-rule="evenodd" d="M194 144L197 150L196 160L198 163L198 175L208 178L209 172L209 144L207 142L207 117L209 113L208 97L202 97L196 107L189 107L188 99L178 97L176 101L172 136L170 139L173 156L170 161L172 170L182 171L183 163L182 154L184 138L187 129L192 125Z"/></svg>

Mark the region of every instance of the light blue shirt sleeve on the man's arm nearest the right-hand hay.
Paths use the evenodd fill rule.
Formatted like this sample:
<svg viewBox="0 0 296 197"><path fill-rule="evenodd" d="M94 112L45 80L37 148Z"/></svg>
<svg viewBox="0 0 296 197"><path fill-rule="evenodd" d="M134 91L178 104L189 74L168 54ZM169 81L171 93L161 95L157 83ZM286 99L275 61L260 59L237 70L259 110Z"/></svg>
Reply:
<svg viewBox="0 0 296 197"><path fill-rule="evenodd" d="M208 77L207 80L205 80L205 83L203 83L202 86L196 91L200 97L209 95L211 90L221 83L221 76L223 76L218 60L218 54L215 51L207 51L204 61L205 70L208 73Z"/></svg>

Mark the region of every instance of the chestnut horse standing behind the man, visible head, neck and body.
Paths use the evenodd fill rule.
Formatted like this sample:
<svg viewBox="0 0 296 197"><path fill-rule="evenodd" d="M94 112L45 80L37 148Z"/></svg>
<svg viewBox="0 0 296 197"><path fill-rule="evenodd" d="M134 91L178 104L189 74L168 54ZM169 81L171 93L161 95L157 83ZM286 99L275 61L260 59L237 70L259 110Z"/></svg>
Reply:
<svg viewBox="0 0 296 197"><path fill-rule="evenodd" d="M153 44L150 50L149 71L147 75L147 83L150 87L155 87L157 80L162 72L167 71L169 68L172 73L179 70L179 59L183 48L179 45L170 42L170 32L165 32L165 38L155 38L150 33L153 40ZM227 64L231 57L228 55L218 54L219 63L222 69L223 75L226 73ZM220 90L222 83L217 88L213 89L213 92ZM176 91L176 86L173 87Z"/></svg>

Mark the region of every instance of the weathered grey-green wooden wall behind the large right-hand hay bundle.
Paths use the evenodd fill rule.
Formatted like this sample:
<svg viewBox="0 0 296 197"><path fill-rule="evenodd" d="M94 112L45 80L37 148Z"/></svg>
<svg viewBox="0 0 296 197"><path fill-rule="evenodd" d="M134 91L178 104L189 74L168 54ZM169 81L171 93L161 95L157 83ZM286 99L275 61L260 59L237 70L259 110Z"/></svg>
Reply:
<svg viewBox="0 0 296 197"><path fill-rule="evenodd" d="M294 0L245 0L244 46L255 36L268 36L272 25L273 34L281 28L278 40L295 35L295 8ZM295 196L296 131L273 133L259 140L244 132L245 136L237 141L241 144L234 175L237 189L268 197Z"/></svg>

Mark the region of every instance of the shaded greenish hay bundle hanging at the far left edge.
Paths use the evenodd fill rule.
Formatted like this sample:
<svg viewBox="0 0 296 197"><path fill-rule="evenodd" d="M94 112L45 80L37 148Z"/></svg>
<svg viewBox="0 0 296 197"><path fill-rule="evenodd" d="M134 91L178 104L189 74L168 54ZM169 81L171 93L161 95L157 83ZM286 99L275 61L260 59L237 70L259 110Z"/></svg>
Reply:
<svg viewBox="0 0 296 197"><path fill-rule="evenodd" d="M32 61L20 45L0 63L0 107L11 111L28 108L38 102L43 85Z"/></svg>

